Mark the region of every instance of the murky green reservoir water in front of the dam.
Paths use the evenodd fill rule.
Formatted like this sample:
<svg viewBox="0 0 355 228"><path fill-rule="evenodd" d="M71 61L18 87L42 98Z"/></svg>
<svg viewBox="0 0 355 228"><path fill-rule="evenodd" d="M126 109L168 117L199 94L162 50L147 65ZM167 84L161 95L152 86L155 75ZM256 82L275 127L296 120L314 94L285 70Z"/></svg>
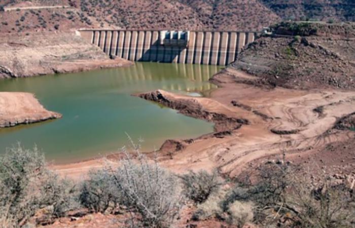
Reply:
<svg viewBox="0 0 355 228"><path fill-rule="evenodd" d="M220 68L206 65L135 63L127 68L0 81L0 91L31 92L63 118L0 129L0 153L20 141L35 144L48 160L78 161L113 153L127 144L125 132L143 138L144 149L165 139L190 138L213 130L210 123L131 96L155 89L204 94Z"/></svg>

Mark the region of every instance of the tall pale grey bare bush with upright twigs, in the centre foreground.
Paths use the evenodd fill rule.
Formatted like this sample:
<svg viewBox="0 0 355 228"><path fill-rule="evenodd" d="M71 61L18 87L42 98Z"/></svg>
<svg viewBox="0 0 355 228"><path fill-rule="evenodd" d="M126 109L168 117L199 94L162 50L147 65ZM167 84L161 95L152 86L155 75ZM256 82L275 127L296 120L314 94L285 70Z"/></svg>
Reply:
<svg viewBox="0 0 355 228"><path fill-rule="evenodd" d="M119 168L111 166L115 185L122 194L122 204L131 213L131 226L168 227L179 213L181 187L177 178L150 162L140 153L138 145L131 142L135 159L123 148L125 159Z"/></svg>

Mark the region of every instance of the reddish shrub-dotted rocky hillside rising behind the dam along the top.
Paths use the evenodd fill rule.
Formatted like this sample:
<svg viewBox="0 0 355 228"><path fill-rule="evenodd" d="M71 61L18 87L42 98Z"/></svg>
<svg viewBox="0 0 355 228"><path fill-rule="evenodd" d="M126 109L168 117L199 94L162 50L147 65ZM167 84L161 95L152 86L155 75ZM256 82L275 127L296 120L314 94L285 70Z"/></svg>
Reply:
<svg viewBox="0 0 355 228"><path fill-rule="evenodd" d="M260 30L284 19L354 21L354 1L0 0L1 32L78 27ZM62 8L38 9L43 6ZM27 7L26 10L16 8ZM29 8L28 8L29 7Z"/></svg>

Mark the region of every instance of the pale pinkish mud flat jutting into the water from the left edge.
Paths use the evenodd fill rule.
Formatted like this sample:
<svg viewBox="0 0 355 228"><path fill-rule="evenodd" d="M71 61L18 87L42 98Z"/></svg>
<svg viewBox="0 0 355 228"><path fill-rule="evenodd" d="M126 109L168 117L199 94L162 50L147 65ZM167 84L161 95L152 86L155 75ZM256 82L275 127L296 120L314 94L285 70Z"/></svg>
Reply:
<svg viewBox="0 0 355 228"><path fill-rule="evenodd" d="M61 117L59 113L46 110L31 93L0 92L0 128Z"/></svg>

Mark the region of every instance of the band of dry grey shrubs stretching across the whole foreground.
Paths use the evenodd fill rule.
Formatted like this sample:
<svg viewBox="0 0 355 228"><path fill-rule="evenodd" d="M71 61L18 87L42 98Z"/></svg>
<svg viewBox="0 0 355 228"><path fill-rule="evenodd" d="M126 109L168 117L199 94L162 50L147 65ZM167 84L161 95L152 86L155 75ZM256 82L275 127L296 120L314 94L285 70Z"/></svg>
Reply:
<svg viewBox="0 0 355 228"><path fill-rule="evenodd" d="M76 211L124 215L119 227L170 227L190 201L196 205L189 218L195 223L336 228L355 222L353 189L346 182L327 175L312 182L285 161L265 163L243 179L223 180L205 171L179 178L140 154L139 145L131 149L134 159L124 149L119 166L108 160L76 185L49 171L37 148L9 149L0 166L2 226L50 224Z"/></svg>

